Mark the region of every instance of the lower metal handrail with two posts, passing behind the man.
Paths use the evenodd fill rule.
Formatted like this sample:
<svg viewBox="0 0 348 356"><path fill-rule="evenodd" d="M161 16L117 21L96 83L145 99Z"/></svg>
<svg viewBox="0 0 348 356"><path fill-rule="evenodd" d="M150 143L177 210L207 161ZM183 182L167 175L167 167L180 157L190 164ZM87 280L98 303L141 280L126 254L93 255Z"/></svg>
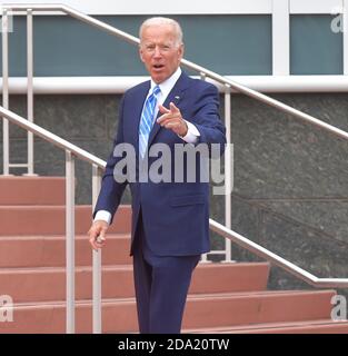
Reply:
<svg viewBox="0 0 348 356"><path fill-rule="evenodd" d="M102 159L89 154L88 151L77 147L76 145L62 139L61 137L43 129L42 127L28 121L27 119L20 117L19 115L4 109L0 106L0 117L8 119L10 122L32 132L36 136L44 139L46 141L52 144L53 146L63 149L67 152L67 245L70 244L70 253L68 254L69 264L70 264L70 278L68 278L68 284L70 284L70 288L72 289L70 298L67 298L67 306L70 308L70 314L68 314L68 322L71 323L70 332L73 332L73 308L74 308L74 257L73 257L73 215L74 215L74 204L73 204L73 190L74 190L74 166L71 165L73 161L73 156L89 162L93 167L93 179L92 179L92 191L93 191L93 205L96 204L96 199L98 196L98 191L100 189L100 176L101 171L106 167L106 161ZM70 174L69 174L70 172ZM70 194L70 196L69 196ZM70 200L70 202L69 202ZM271 253L270 250L264 248L262 246L249 240L248 238L239 235L238 233L227 228L226 226L215 221L213 219L209 219L209 227L212 231L216 231L220 236L233 241L242 248L246 248L250 253L258 255L259 257L265 258L271 264L282 268L289 274L300 278L301 280L308 283L309 285L316 288L346 288L348 287L348 278L318 278L307 270L294 265L287 259ZM69 237L69 238L68 238ZM99 255L98 255L99 254ZM69 274L69 268L67 266L67 270ZM101 258L100 253L93 251L93 329L96 332L101 332L101 279L100 277L101 270ZM97 325L97 326L95 326ZM69 330L69 329L68 329Z"/></svg>

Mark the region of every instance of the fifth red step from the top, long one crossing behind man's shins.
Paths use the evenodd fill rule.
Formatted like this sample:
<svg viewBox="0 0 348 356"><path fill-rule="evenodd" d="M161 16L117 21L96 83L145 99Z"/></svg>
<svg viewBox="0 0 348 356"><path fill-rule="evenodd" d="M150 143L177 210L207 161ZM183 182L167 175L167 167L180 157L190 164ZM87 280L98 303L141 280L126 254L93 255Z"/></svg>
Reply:
<svg viewBox="0 0 348 356"><path fill-rule="evenodd" d="M334 290L256 291L189 295L183 329L243 324L328 319ZM91 303L77 303L77 332L91 332ZM138 330L133 298L107 299L102 304L103 333ZM16 304L13 322L0 323L0 333L64 333L63 303Z"/></svg>

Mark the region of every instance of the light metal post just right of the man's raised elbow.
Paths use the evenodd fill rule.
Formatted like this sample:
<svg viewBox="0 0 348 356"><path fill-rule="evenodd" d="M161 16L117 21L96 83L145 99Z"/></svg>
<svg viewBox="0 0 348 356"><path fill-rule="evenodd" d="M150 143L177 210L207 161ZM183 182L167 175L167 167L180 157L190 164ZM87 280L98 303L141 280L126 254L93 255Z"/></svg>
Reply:
<svg viewBox="0 0 348 356"><path fill-rule="evenodd" d="M232 185L232 160L231 150L229 149L231 145L231 88L226 86L225 92L225 126L226 126L226 137L227 137L227 149L225 151L225 226L228 229L232 228L232 202L231 202L231 185ZM225 239L226 249L226 261L231 261L231 241L227 238Z"/></svg>

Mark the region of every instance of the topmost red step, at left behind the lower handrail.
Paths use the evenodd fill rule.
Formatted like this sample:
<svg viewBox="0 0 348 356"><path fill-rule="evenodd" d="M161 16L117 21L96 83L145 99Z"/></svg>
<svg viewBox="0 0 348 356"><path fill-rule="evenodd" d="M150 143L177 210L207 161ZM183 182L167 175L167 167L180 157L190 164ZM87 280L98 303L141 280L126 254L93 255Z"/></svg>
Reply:
<svg viewBox="0 0 348 356"><path fill-rule="evenodd" d="M0 176L0 205L64 204L64 177Z"/></svg>

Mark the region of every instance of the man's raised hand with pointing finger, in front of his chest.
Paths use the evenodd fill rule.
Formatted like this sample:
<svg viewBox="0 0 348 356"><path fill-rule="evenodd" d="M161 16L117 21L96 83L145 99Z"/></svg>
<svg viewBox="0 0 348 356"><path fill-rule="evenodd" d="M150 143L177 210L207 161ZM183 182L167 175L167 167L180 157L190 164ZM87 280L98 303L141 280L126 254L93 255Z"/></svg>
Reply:
<svg viewBox="0 0 348 356"><path fill-rule="evenodd" d="M170 102L169 109L160 105L159 111L162 115L157 119L157 122L161 127L165 127L166 129L170 129L181 137L185 137L187 135L188 127L181 116L179 108L177 108L172 102Z"/></svg>

